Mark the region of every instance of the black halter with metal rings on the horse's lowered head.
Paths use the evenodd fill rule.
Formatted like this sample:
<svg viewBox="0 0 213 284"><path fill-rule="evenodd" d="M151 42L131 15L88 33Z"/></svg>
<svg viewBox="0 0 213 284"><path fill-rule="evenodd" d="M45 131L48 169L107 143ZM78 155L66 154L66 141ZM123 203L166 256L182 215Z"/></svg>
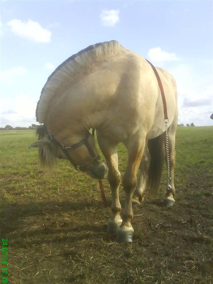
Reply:
<svg viewBox="0 0 213 284"><path fill-rule="evenodd" d="M46 132L47 132L47 127L46 127L45 125L44 125L44 128L45 128L45 130L46 130ZM52 135L50 135L50 134L47 132L47 137L48 137L48 139L49 139L52 143L54 143L54 144L56 144L57 146L61 147L61 149L62 149L64 155L65 155L66 158L71 162L71 164L73 165L73 167L75 168L75 170L77 170L77 171L82 171L82 172L86 172L90 167L95 166L95 165L98 165L98 164L100 163L100 159L101 159L101 158L100 158L100 155L98 155L98 156L95 155L95 152L93 151L93 149L92 149L90 143L88 142L87 139L88 139L89 136L90 136L90 132L88 131L86 137L85 137L83 140L81 140L81 141L78 142L78 143L72 144L72 145L70 145L70 146L68 146L68 147L65 147L62 143L60 143L59 141L57 141ZM93 164L91 164L90 166L87 166L87 167L80 167L78 164L76 164L76 163L73 161L73 159L70 157L70 155L68 154L68 152L66 151L66 150L68 150L68 149L76 149L76 148L82 146L83 144L85 144L85 146L87 147L88 151L90 152L92 158L94 159Z"/></svg>

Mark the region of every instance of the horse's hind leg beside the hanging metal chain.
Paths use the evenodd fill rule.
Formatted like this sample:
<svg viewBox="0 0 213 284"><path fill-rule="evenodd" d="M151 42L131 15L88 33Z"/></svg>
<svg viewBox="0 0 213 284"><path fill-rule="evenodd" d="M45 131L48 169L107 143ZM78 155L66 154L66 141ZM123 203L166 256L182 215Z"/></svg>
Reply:
<svg viewBox="0 0 213 284"><path fill-rule="evenodd" d="M175 202L175 186L174 186L174 167L175 167L175 159L176 159L176 152L175 152L175 133L177 128L177 122L174 121L168 128L168 140L169 140L169 165L170 165L170 185L171 188L167 188L166 195L164 197L164 203L168 206L172 206ZM164 146L165 146L165 153L166 153L166 138L164 139ZM167 164L167 157L165 156L166 164Z"/></svg>

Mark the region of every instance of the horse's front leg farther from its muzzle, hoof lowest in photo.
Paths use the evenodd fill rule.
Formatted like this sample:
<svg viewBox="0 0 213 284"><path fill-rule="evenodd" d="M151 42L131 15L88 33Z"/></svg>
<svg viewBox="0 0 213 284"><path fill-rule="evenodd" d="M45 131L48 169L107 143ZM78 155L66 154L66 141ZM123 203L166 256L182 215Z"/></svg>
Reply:
<svg viewBox="0 0 213 284"><path fill-rule="evenodd" d="M122 211L123 221L118 228L116 239L118 242L131 242L133 240L134 230L131 225L133 218L132 197L137 184L138 167L145 147L145 135L136 134L125 145L128 149L128 163L122 181L125 191L125 205Z"/></svg>

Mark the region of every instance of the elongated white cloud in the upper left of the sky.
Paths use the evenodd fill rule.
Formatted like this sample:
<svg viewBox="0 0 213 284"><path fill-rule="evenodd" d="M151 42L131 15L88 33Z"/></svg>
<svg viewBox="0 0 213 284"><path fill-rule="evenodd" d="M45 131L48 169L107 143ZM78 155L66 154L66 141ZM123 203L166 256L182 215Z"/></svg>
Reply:
<svg viewBox="0 0 213 284"><path fill-rule="evenodd" d="M22 22L21 20L11 20L7 23L11 28L11 31L28 40L34 42L50 42L51 32L42 28L37 22L28 20L28 22Z"/></svg>

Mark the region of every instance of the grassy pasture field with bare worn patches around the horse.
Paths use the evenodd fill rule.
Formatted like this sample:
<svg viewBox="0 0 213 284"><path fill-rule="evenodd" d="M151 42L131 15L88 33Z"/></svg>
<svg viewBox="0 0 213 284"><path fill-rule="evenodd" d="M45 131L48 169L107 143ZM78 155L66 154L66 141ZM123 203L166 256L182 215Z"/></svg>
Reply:
<svg viewBox="0 0 213 284"><path fill-rule="evenodd" d="M162 206L164 168L159 193L146 194L134 209L130 244L106 232L108 181L104 208L98 181L68 161L59 160L52 176L44 174L37 149L28 150L33 141L34 131L0 132L0 236L8 239L8 283L213 283L212 126L178 127L176 203ZM122 144L118 155L123 175Z"/></svg>

